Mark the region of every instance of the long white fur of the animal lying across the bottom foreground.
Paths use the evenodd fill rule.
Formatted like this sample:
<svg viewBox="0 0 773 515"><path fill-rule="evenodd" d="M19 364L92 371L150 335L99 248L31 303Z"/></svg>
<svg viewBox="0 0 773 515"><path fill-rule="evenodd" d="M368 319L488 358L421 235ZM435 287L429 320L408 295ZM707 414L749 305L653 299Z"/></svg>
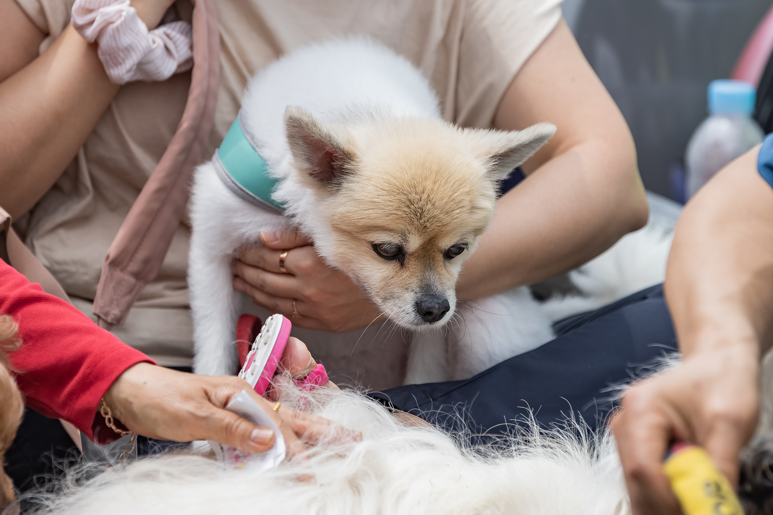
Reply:
<svg viewBox="0 0 773 515"><path fill-rule="evenodd" d="M297 392L282 402L294 405ZM320 442L305 459L262 472L224 470L203 456L169 455L112 467L50 496L44 513L628 513L608 434L521 434L501 446L463 449L438 429L406 427L363 395L316 391L307 410L363 434Z"/></svg>

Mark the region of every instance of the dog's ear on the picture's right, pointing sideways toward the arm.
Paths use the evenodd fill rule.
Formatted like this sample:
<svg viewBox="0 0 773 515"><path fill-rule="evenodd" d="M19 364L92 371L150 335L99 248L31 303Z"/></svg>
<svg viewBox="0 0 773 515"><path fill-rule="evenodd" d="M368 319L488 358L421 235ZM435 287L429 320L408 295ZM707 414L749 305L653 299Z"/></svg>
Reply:
<svg viewBox="0 0 773 515"><path fill-rule="evenodd" d="M523 130L481 130L482 158L486 159L489 174L496 181L501 181L516 166L546 144L556 132L556 126L543 122L526 127Z"/></svg>

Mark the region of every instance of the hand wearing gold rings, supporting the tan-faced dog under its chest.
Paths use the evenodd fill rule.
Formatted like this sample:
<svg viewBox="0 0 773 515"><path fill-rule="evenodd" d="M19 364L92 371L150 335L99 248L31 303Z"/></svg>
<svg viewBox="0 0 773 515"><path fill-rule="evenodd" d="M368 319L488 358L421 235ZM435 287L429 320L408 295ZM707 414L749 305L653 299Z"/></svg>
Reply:
<svg viewBox="0 0 773 515"><path fill-rule="evenodd" d="M322 261L312 242L294 230L261 232L262 246L241 249L233 262L235 290L294 325L329 333L348 333L383 320L381 312L349 276ZM288 273L279 269L279 255ZM293 300L298 317L294 317Z"/></svg>

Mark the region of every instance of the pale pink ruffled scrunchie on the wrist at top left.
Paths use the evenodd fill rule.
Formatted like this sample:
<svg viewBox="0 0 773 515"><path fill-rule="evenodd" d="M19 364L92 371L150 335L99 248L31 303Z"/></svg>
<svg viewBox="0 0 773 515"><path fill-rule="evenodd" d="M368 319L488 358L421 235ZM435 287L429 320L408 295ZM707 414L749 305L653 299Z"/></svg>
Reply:
<svg viewBox="0 0 773 515"><path fill-rule="evenodd" d="M76 0L73 27L97 53L114 84L167 80L193 66L193 39L187 22L171 22L148 32L129 0Z"/></svg>

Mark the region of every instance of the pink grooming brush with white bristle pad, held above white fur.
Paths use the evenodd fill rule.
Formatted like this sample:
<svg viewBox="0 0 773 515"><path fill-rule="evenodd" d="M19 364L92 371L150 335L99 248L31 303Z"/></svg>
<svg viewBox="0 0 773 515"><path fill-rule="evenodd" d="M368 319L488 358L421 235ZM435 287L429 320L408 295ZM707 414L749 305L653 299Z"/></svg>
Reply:
<svg viewBox="0 0 773 515"><path fill-rule="evenodd" d="M284 354L284 347L288 344L292 324L290 320L280 314L271 315L261 328L261 332L255 338L252 349L244 360L244 366L239 372L239 377L250 383L257 395L263 396L271 384L271 378L277 371L279 361ZM305 391L311 391L318 386L326 385L328 374L325 367L318 364L303 381L295 383Z"/></svg>

